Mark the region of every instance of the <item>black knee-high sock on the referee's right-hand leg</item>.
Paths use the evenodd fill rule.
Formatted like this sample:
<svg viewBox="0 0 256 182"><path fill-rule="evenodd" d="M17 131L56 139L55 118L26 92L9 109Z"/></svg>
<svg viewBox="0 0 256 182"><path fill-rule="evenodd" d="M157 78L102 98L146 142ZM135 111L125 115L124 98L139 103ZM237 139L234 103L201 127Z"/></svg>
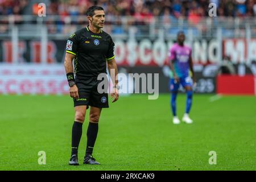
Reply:
<svg viewBox="0 0 256 182"><path fill-rule="evenodd" d="M86 145L86 155L92 155L94 143L96 141L98 134L98 123L89 122L87 129L87 145Z"/></svg>

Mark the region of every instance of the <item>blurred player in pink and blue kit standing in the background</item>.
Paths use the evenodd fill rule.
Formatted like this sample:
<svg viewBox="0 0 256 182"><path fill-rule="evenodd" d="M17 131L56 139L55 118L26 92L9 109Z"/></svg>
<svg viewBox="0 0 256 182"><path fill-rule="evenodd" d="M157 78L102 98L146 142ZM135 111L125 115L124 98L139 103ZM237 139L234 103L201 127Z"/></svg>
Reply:
<svg viewBox="0 0 256 182"><path fill-rule="evenodd" d="M175 43L170 49L170 90L171 90L171 108L174 115L173 123L179 124L180 120L176 114L176 98L180 84L186 90L187 93L187 105L185 114L182 121L185 123L192 123L192 119L189 118L189 111L192 106L192 85L195 83L195 74L193 71L193 63L191 57L191 48L184 45L185 35L183 31L177 34L177 43ZM192 78L189 76L189 69L192 73Z"/></svg>

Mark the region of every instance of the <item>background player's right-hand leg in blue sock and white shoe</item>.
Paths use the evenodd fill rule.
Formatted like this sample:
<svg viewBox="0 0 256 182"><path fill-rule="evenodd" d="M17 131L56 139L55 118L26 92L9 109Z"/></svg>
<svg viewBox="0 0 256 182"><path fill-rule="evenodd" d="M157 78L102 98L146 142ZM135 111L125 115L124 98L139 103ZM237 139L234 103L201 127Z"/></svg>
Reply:
<svg viewBox="0 0 256 182"><path fill-rule="evenodd" d="M182 85L187 94L186 109L185 109L185 114L182 118L182 121L184 121L185 123L192 123L193 122L192 119L189 118L189 111L191 110L192 97L193 97L192 79L190 77L185 78L184 80L182 80Z"/></svg>

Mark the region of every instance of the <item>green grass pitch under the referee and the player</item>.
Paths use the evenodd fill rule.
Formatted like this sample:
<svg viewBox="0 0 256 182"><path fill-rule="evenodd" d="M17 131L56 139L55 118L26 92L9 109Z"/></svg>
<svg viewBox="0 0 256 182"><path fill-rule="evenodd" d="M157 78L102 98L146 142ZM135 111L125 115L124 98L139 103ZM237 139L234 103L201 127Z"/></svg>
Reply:
<svg viewBox="0 0 256 182"><path fill-rule="evenodd" d="M69 96L0 96L0 170L255 170L256 97L195 94L192 125L172 124L169 94L120 97L100 118L94 157L82 164L88 113L79 146L80 166L68 166L73 101ZM180 119L185 95L177 97ZM38 164L38 152L46 164ZM216 151L217 164L209 164Z"/></svg>

